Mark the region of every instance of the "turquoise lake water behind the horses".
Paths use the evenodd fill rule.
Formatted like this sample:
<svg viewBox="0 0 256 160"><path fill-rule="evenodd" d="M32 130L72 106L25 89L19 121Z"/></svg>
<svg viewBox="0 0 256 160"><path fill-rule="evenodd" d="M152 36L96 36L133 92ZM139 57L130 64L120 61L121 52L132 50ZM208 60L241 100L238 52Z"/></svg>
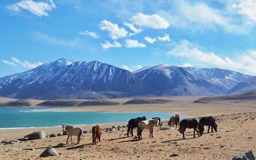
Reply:
<svg viewBox="0 0 256 160"><path fill-rule="evenodd" d="M167 112L70 112L53 108L0 107L0 129L52 127L62 123L72 125L127 122L132 118L146 116L170 119ZM180 118L188 116L180 115Z"/></svg>

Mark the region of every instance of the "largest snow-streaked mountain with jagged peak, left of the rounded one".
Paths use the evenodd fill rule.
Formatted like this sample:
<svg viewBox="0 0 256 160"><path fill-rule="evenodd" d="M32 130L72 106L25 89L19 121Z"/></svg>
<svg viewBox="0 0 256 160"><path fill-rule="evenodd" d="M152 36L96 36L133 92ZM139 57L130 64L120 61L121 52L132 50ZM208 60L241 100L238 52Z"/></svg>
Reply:
<svg viewBox="0 0 256 160"><path fill-rule="evenodd" d="M0 96L18 99L86 99L88 94L118 97L116 92L129 96L155 91L127 70L99 61L72 63L64 58L0 78Z"/></svg>

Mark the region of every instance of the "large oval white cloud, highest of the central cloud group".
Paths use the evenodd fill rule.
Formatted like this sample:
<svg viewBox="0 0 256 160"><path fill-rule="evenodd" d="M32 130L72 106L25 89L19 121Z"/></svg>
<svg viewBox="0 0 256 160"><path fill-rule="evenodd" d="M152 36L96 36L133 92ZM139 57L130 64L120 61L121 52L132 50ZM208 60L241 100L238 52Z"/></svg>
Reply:
<svg viewBox="0 0 256 160"><path fill-rule="evenodd" d="M131 19L134 24L141 26L148 26L153 29L167 29L170 24L165 21L165 19L161 18L159 15L144 15L142 13L138 13L136 16L133 16Z"/></svg>

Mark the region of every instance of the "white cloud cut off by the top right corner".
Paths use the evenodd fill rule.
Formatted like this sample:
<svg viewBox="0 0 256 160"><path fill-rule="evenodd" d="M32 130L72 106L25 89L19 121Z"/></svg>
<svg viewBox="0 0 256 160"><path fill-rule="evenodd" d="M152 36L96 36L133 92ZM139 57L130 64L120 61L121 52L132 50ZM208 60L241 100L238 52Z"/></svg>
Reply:
<svg viewBox="0 0 256 160"><path fill-rule="evenodd" d="M239 8L238 13L247 16L248 19L256 21L256 1L255 0L241 0L240 3L234 4L234 8Z"/></svg>

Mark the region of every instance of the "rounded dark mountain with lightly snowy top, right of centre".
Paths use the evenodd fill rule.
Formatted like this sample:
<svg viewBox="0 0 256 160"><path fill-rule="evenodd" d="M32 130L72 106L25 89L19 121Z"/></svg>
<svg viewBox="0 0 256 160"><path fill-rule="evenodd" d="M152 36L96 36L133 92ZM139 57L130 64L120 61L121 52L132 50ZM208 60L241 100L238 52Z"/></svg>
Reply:
<svg viewBox="0 0 256 160"><path fill-rule="evenodd" d="M211 83L178 66L147 66L133 73L163 95L218 93L218 90Z"/></svg>

